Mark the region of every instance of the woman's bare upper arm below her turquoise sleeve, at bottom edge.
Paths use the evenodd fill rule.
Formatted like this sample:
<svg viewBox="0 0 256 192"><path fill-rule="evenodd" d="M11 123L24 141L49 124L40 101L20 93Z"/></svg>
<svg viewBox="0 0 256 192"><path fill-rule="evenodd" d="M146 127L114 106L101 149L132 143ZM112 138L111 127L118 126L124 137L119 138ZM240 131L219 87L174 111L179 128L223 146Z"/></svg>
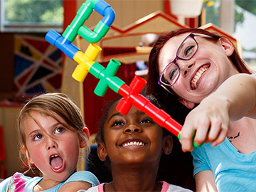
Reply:
<svg viewBox="0 0 256 192"><path fill-rule="evenodd" d="M214 174L212 171L201 171L195 176L197 192L217 191L215 186Z"/></svg>

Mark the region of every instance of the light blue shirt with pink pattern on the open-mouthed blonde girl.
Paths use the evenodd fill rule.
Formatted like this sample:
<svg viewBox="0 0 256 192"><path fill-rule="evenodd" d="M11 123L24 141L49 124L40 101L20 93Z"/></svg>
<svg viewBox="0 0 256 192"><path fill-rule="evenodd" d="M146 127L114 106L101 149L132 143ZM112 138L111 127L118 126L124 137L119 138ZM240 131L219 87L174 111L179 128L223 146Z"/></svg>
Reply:
<svg viewBox="0 0 256 192"><path fill-rule="evenodd" d="M6 178L0 183L0 191L16 192L16 191L26 191L32 192L34 186L39 183L43 177L35 176L33 178L24 176L21 173L15 173L13 176ZM71 175L63 183L59 183L57 186L46 190L45 192L54 192L58 191L65 183L72 181L86 181L91 183L92 186L97 186L100 182L97 180L97 177L89 171L78 171Z"/></svg>

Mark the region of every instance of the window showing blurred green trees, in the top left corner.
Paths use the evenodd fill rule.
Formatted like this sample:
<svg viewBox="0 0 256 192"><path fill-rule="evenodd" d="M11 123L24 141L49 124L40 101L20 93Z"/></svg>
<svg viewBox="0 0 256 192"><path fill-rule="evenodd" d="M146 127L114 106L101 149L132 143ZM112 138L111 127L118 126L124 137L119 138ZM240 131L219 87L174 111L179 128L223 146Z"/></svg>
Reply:
<svg viewBox="0 0 256 192"><path fill-rule="evenodd" d="M62 0L1 0L1 32L62 31Z"/></svg>

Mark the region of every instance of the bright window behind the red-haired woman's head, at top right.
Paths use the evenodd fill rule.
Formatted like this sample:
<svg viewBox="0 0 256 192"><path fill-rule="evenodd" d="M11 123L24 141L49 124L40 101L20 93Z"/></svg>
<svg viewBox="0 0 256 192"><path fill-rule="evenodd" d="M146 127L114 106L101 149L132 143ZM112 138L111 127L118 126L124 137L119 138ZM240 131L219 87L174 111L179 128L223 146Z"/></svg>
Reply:
<svg viewBox="0 0 256 192"><path fill-rule="evenodd" d="M234 0L235 26L233 36L242 45L242 58L250 68L256 71L256 1ZM220 0L204 0L206 10L206 23L219 26Z"/></svg>

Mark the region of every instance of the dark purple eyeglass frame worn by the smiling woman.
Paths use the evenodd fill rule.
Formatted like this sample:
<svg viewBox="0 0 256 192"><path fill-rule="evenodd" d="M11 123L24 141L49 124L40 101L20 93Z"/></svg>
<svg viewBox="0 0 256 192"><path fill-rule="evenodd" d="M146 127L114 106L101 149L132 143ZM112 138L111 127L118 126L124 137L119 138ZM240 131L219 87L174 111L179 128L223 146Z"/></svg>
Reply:
<svg viewBox="0 0 256 192"><path fill-rule="evenodd" d="M176 63L176 61L177 61L178 59L180 59L180 60L191 60L191 58L193 58L193 56L196 55L199 46L198 46L198 42L196 41L195 36L201 36L201 37L205 37L205 38L214 38L213 36L208 36L208 35L203 34L203 33L190 33L188 36L186 36L186 38L183 39L183 41L181 42L180 46L178 46L178 49L177 49L177 51L176 51L176 58L174 58L174 60L172 60L168 65L166 65L166 67L164 68L164 70L161 72L161 75L159 76L159 80L158 80L158 82L157 82L161 87L164 87L164 89L165 89L167 92L171 93L172 95L174 95L174 94L173 94L167 87L173 86L173 85L177 82L179 76L181 75L181 69L179 68L178 63ZM180 50L182 44L183 44L188 38L193 38L193 40L196 42L196 46L197 46L196 51L195 51L195 53L194 53L193 55L191 55L191 57L188 58L188 59L179 58L179 57L178 57L178 50ZM174 83L172 83L171 85L165 85L164 82L161 82L161 78L162 78L162 76L164 75L164 71L165 71L167 68L169 68L169 65L171 65L172 63L174 63L174 65L176 65L176 67L178 68L178 78L176 78L176 80L174 81Z"/></svg>

